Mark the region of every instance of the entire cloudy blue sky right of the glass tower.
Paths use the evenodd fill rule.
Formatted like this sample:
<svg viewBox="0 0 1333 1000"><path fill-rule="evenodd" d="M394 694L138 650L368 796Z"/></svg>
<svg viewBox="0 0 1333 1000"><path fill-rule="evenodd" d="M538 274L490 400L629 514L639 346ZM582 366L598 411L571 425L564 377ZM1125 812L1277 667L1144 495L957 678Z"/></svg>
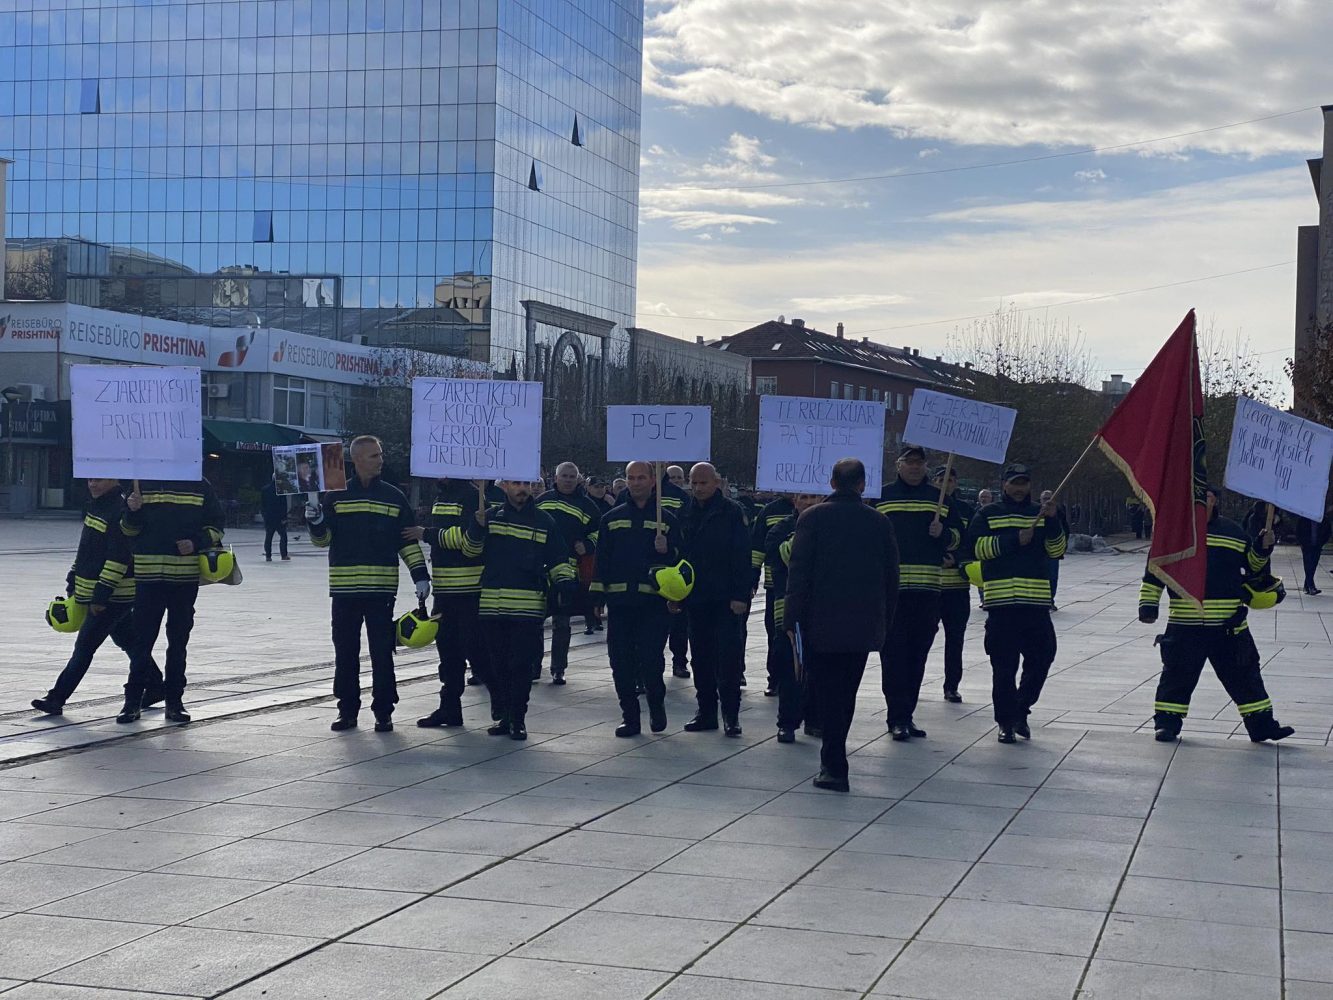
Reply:
<svg viewBox="0 0 1333 1000"><path fill-rule="evenodd" d="M1330 37L1328 0L648 0L639 323L948 357L1016 305L1133 379L1196 308L1277 375Z"/></svg>

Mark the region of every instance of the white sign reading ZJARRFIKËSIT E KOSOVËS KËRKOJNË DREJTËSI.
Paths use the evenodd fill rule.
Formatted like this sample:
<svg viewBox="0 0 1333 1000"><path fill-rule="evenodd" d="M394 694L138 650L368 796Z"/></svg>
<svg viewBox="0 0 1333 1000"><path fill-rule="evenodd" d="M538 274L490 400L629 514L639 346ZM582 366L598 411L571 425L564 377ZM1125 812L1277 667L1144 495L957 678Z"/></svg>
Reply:
<svg viewBox="0 0 1333 1000"><path fill-rule="evenodd" d="M412 475L536 480L541 383L413 379Z"/></svg>

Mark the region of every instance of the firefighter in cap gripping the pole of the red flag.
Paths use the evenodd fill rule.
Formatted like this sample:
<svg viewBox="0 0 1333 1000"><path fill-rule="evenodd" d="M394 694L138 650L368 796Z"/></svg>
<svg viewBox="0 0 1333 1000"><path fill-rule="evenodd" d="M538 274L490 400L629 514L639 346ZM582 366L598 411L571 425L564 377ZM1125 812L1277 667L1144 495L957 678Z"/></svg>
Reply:
<svg viewBox="0 0 1333 1000"><path fill-rule="evenodd" d="M977 511L968 535L981 564L997 739L1014 743L1017 735L1028 740L1028 713L1056 661L1049 560L1065 555L1068 537L1054 501L1033 501L1026 465L1005 469L1001 499Z"/></svg>

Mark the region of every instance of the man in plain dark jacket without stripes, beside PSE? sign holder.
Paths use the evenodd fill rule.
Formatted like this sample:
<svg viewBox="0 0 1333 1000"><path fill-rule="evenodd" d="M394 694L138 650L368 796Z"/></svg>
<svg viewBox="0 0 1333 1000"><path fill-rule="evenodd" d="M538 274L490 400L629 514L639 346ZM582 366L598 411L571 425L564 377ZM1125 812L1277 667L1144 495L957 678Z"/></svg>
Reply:
<svg viewBox="0 0 1333 1000"><path fill-rule="evenodd" d="M694 567L694 589L685 601L689 647L694 656L698 712L686 732L717 728L740 736L741 671L745 655L744 616L750 599L750 553L740 504L721 491L717 469L701 461L689 471L692 497L681 519L684 556Z"/></svg>

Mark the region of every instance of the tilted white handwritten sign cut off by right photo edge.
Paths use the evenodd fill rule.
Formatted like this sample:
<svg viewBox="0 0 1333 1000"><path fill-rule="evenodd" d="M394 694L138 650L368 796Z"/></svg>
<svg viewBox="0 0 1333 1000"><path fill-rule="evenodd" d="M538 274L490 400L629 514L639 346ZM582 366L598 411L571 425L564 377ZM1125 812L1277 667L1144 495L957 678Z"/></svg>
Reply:
<svg viewBox="0 0 1333 1000"><path fill-rule="evenodd" d="M1312 521L1324 519L1333 431L1252 399L1236 400L1226 488Z"/></svg>

